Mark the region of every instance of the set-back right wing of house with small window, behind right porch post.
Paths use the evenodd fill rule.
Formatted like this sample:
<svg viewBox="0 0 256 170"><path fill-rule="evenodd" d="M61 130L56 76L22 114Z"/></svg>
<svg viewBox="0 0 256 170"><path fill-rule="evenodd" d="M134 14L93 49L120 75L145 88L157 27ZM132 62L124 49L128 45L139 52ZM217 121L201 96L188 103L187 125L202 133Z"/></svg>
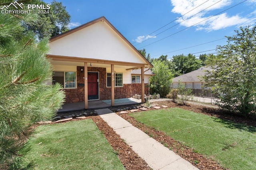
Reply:
<svg viewBox="0 0 256 170"><path fill-rule="evenodd" d="M141 69L134 69L131 71L132 74L132 95L141 93ZM155 75L150 69L144 68L144 93L148 95L148 84L149 77Z"/></svg>

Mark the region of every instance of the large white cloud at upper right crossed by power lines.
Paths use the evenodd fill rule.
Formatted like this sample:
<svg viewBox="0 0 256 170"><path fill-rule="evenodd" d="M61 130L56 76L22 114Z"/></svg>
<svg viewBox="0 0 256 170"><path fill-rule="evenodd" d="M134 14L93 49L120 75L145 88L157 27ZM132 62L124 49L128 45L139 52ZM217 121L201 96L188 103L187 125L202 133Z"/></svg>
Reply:
<svg viewBox="0 0 256 170"><path fill-rule="evenodd" d="M186 26L186 27L196 26L197 30L206 30L206 31L220 30L230 26L246 26L255 22L255 17L247 18L246 16L239 16L239 14L236 14L234 16L228 16L227 13L219 14L216 16L209 15L209 13L214 10L218 10L218 12L220 12L220 10L225 10L226 8L228 8L227 6L230 6L230 4L232 3L232 0L222 0L220 2L219 1L220 0L210 0L207 2L205 0L171 0L172 5L174 6L174 8L172 9L172 12L178 13L181 15L185 14L184 16L182 16L176 21L176 22L181 22L180 23L181 26ZM256 1L256 0L250 0L250 2L253 2L253 1ZM207 9L204 10L205 8ZM190 10L192 11L189 12ZM186 14L187 12L189 13ZM198 12L200 13L197 14ZM213 14L218 12L213 12Z"/></svg>

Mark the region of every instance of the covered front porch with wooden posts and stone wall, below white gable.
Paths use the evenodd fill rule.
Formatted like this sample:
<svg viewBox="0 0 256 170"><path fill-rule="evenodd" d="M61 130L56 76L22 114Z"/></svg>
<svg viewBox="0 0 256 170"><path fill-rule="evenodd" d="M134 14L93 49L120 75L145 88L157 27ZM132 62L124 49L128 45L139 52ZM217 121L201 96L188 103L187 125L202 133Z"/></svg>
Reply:
<svg viewBox="0 0 256 170"><path fill-rule="evenodd" d="M66 104L64 107L74 105L82 109L94 108L94 103L102 107L109 107L119 104L116 99L132 97L131 89L131 70L141 68L140 89L141 102L144 102L144 65L137 63L125 63L117 61L102 61L95 59L81 59L77 57L60 57L50 55L54 71L62 73L74 73L72 82L66 83L66 76L53 76L53 83L59 81L64 86L66 92ZM84 62L81 62L84 61ZM87 62L85 62L87 61ZM56 72L55 72L56 74ZM92 77L96 75L95 78ZM120 77L117 77L120 75ZM117 80L119 78L119 80ZM67 85L74 85L74 88L66 88ZM94 98L91 98L94 97ZM98 101L94 101L98 100ZM103 100L109 100L108 104L102 103ZM79 103L79 104L72 104ZM95 104L95 105L96 105ZM92 105L92 106L91 106ZM78 109L80 110L80 109Z"/></svg>

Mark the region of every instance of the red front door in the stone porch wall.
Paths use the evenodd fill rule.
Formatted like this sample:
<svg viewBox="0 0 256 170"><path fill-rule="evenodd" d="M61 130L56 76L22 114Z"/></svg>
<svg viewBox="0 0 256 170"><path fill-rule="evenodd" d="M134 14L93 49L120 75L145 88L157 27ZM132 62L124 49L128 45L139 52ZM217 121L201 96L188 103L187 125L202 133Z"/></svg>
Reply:
<svg viewBox="0 0 256 170"><path fill-rule="evenodd" d="M88 99L99 99L98 73L88 72Z"/></svg>

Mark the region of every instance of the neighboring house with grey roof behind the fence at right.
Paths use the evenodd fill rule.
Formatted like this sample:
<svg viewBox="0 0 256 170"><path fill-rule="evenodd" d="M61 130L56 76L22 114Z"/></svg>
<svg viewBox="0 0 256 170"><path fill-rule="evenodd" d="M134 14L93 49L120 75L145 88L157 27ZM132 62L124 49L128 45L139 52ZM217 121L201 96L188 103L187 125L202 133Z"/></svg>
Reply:
<svg viewBox="0 0 256 170"><path fill-rule="evenodd" d="M211 94L208 91L208 87L203 87L204 81L200 76L205 75L205 70L212 70L209 67L201 67L197 70L191 71L189 73L174 77L172 79L172 87L178 87L178 82L185 83L186 88L193 89L193 93L197 96L206 96L211 97ZM204 89L204 93L203 93ZM207 93L206 93L207 92Z"/></svg>

